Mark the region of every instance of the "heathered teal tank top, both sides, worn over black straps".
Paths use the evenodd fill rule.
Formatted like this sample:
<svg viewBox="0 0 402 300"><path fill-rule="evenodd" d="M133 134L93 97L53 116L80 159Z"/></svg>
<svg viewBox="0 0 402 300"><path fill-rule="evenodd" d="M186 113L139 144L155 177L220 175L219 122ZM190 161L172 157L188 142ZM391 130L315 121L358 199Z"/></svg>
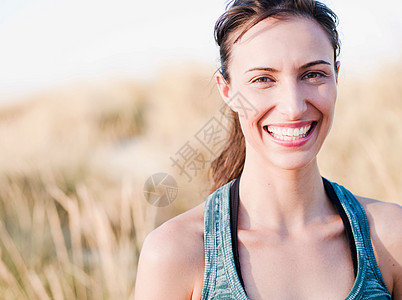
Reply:
<svg viewBox="0 0 402 300"><path fill-rule="evenodd" d="M248 300L237 274L230 229L230 186L208 196L204 210L205 271L202 300ZM366 213L343 186L330 182L350 222L357 252L357 274L345 300L391 299L374 256Z"/></svg>

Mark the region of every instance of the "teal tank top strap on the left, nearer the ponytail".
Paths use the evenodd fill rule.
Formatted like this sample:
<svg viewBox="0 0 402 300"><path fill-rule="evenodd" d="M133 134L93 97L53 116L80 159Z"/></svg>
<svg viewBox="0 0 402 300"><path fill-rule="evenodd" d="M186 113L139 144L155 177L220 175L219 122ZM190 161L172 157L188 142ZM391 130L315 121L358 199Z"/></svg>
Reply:
<svg viewBox="0 0 402 300"><path fill-rule="evenodd" d="M230 232L230 185L208 196L204 209L205 270L202 300L248 300L237 275Z"/></svg>

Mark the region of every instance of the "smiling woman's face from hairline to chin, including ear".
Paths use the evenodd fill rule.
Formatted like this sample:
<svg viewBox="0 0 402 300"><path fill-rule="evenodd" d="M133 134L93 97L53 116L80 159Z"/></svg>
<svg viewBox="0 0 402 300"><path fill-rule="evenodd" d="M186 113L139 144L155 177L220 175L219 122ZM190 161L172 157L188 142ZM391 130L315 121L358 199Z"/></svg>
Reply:
<svg viewBox="0 0 402 300"><path fill-rule="evenodd" d="M217 82L239 113L247 156L282 169L315 159L333 120L334 60L325 31L302 17L266 19L232 46L230 83Z"/></svg>

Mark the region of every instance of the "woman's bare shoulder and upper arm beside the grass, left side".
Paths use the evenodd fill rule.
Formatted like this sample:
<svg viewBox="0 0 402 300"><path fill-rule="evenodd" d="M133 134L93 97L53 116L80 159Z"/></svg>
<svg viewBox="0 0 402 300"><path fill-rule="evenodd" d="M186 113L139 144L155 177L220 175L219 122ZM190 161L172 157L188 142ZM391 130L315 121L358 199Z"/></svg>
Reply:
<svg viewBox="0 0 402 300"><path fill-rule="evenodd" d="M136 300L191 299L202 285L203 213L204 203L147 236L138 263Z"/></svg>

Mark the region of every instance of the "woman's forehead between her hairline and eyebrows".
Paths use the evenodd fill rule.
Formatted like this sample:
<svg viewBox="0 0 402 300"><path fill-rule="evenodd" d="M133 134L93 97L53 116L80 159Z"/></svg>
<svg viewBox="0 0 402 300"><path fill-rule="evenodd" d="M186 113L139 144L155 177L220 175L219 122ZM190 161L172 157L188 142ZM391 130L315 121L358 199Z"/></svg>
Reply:
<svg viewBox="0 0 402 300"><path fill-rule="evenodd" d="M275 67L275 64L305 64L318 59L333 62L334 50L324 29L306 17L265 19L234 43L231 53L233 65Z"/></svg>

